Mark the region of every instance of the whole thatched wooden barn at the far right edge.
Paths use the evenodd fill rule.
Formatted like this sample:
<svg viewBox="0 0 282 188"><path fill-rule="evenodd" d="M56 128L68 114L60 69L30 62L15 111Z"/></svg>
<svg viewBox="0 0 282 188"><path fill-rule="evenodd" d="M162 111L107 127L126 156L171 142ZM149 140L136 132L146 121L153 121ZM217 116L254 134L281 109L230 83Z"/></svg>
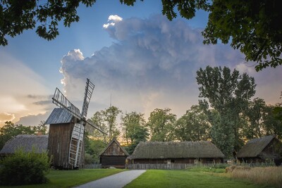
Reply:
<svg viewBox="0 0 282 188"><path fill-rule="evenodd" d="M237 153L237 158L245 163L264 163L267 159L274 160L281 165L282 142L269 135L258 139L251 139Z"/></svg>

